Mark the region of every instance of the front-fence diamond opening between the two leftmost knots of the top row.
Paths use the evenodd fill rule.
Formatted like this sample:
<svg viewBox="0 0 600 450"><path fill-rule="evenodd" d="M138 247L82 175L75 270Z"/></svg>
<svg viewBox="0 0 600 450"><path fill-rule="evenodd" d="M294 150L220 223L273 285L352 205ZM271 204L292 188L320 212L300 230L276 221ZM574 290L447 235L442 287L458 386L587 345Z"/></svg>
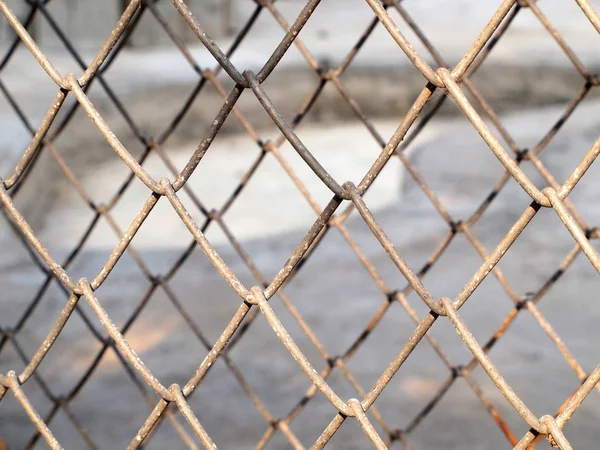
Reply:
<svg viewBox="0 0 600 450"><path fill-rule="evenodd" d="M185 30L191 33L173 5L158 2L153 7L160 20L166 20L169 30L178 38L182 38L182 32L185 35ZM198 70L212 69L216 62L210 55L208 59L204 58L197 49L191 49L188 56L192 61L188 60L149 7L141 17L127 45L158 45L158 49L123 50L125 57L117 57L103 77L142 135L162 140L175 131L174 139L169 141L171 145L199 140L224 102L210 80L200 82L198 73ZM155 31L149 33L150 29ZM186 41L185 36L183 39ZM222 88L229 92L233 84L228 76L221 73L217 78ZM132 83L132 79L136 82ZM99 95L112 101L104 92Z"/></svg>

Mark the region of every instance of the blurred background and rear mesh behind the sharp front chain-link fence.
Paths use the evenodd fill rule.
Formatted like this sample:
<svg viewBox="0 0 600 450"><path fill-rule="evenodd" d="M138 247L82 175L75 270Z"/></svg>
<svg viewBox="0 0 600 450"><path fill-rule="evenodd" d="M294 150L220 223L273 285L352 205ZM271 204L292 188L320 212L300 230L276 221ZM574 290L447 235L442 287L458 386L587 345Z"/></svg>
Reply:
<svg viewBox="0 0 600 450"><path fill-rule="evenodd" d="M83 72L129 4L5 3L62 74ZM306 4L185 3L217 45L231 51L240 72L260 70ZM404 0L388 12L433 67L440 59L452 67L500 3ZM467 95L507 151L539 149L544 167L562 183L599 135L600 104L592 84L600 67L600 36L574 1L539 0L535 5L536 11L513 7L506 30L469 74L473 90ZM0 176L6 179L57 89L29 51L13 45L15 33L0 19ZM155 179L173 180L234 86L217 67L170 1L147 1L86 93L144 168ZM425 85L367 2L322 0L263 88L334 178L358 183ZM410 267L425 273L430 292L454 298L482 264L474 242L479 250L493 251L530 198L512 179L495 191L503 167L460 110L438 94L403 148L421 186L399 158L392 158L365 202ZM251 91L244 91L236 106L181 199L240 280L262 285L285 264L331 192ZM503 128L489 120L490 112ZM429 114L431 120L421 121ZM73 96L67 97L49 139L51 146L40 152L26 181L10 193L71 278L92 279L150 193L131 177ZM523 170L538 187L548 185L530 161ZM598 174L592 166L569 197L590 230L600 223ZM423 183L439 201L437 209ZM469 220L486 198L492 198L489 207ZM440 208L454 223L467 222L471 234L453 232ZM344 369L336 366L327 381L348 399L360 397L356 386L365 391L373 386L414 331L414 319L428 311L405 289L406 280L360 216L349 210L343 217L343 226L328 231L284 286L283 298L275 296L271 303L317 370L343 359ZM161 382L183 385L240 299L167 201L159 201L131 248L134 252L121 258L97 297ZM0 252L0 373L19 373L68 297L6 214L0 220ZM484 345L515 309L515 301L535 299L535 311L519 312L489 355L538 417L554 414L599 360L598 275L578 255L556 214L546 209L499 268L506 284L488 276L461 316ZM377 430L394 441L393 448L512 448L511 441L527 432L527 424L480 367L470 368L472 355L447 320L438 321L430 334L444 356L425 340L417 346L375 403L380 417L371 420ZM554 336L576 358L575 366L565 360ZM244 329L228 358L215 363L190 398L219 448L256 448L258 442L269 449L292 448L276 429L277 418L288 418L290 429L309 448L335 409L319 393L303 400L311 383L263 317ZM84 302L23 389L65 448L125 448L158 400L119 359ZM574 448L596 448L599 400L597 392L590 394L565 427ZM496 413L506 424L504 431ZM199 446L186 427L174 413L161 422L147 447ZM12 395L0 402L0 437L10 449L46 448ZM329 447L370 445L358 424L347 421ZM539 448L547 446L541 442Z"/></svg>

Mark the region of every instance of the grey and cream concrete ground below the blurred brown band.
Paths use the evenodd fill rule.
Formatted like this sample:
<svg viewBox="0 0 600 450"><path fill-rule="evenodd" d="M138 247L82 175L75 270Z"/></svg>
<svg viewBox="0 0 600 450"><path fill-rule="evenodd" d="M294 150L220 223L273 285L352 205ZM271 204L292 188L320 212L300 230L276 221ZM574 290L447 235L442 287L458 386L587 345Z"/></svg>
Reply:
<svg viewBox="0 0 600 450"><path fill-rule="evenodd" d="M597 107L597 103L590 103L578 110L543 154L545 164L558 180L566 178L593 142L597 133L597 119L593 111ZM531 146L539 138L540 130L547 129L559 114L559 108L550 108L542 113L510 115L505 118L505 123L517 142ZM432 125L415 142L411 159L426 182L439 194L450 214L456 219L465 218L501 176L500 165L464 120L445 119ZM389 121L377 123L385 136L391 133L394 126ZM356 180L377 152L376 145L364 133L361 135L359 130L357 124L333 129L308 128L304 133L301 131L300 136L305 138L309 148L315 150L316 156L339 180ZM173 158L176 163L181 164L190 151L189 147L175 151ZM207 155L206 167L201 165L199 173L192 178L192 189L209 207L218 206L226 193L224 186L229 183L233 185L244 166L242 161L255 153L254 146L242 136L225 138L221 145L216 142ZM302 170L302 163L293 158L290 148L285 149L284 154L290 157L293 167L298 168L309 190L323 204L326 195L316 178L307 170ZM268 155L268 158L272 158L272 155ZM164 171L157 160L149 161L148 169L155 173ZM84 177L84 187L93 198L101 197L112 183L121 180L120 171L121 164L116 162L96 167L93 173ZM600 219L600 208L594 201L597 186L593 180L597 172L597 167L592 167L572 195L573 201L591 224L598 223ZM543 185L533 171L528 170L528 173L538 185ZM225 220L259 270L270 279L315 216L300 194L294 192L287 176L274 160L266 160L265 167L257 175ZM125 226L133 217L146 194L141 185L134 186L119 204L115 218L121 226ZM391 161L382 175L381 183L374 185L366 200L399 251L415 269L424 263L447 232L447 226L412 179L402 171L398 161ZM185 201L192 209L189 199ZM156 274L164 273L190 240L166 202L162 203L133 241L133 246ZM491 250L528 203L527 197L516 184L509 183L473 228L473 232ZM164 208L161 209L161 206ZM82 202L66 185L64 195L59 197L54 208L55 214L41 230L41 238L56 255L62 255L62 245L66 250L71 243L70 238L82 232L86 216ZM348 229L390 288L402 288L405 284L402 276L358 216L353 215L349 219ZM60 241L56 241L58 235L63 236ZM254 284L243 262L235 255L222 233L211 226L207 236L241 279L248 285ZM91 277L115 243L116 238L108 227L100 223L69 273L75 278L84 275ZM539 289L573 246L572 238L556 215L544 210L501 261L500 267L513 288L524 295ZM434 295L452 297L480 264L477 253L464 236L459 236L426 276L425 284ZM21 263L6 267L3 271L2 283L11 286L5 291L9 292L8 296L3 296L4 323L13 322L26 307L26 300L34 290L32 277L39 278L39 275L25 257ZM210 341L214 341L239 305L239 299L231 293L200 251L196 251L191 260L183 265L171 284L202 332ZM115 322L122 324L148 286L148 281L133 260L125 257L98 291L98 298ZM540 303L544 316L588 371L600 356L592 344L598 334L596 323L600 319L600 309L594 306L593 300L597 287L598 279L593 268L585 258L579 257ZM332 355L342 353L352 343L385 301L349 246L335 231L324 240L285 291ZM425 313L418 298L412 295L410 301L420 314ZM58 289L51 288L20 333L19 343L27 353L35 349L48 329L48 318L55 318L63 303L64 297ZM315 366L324 368L325 362L280 301L275 299L273 305ZM496 280L489 277L461 310L461 315L480 342L485 342L510 308L509 298ZM84 309L90 312L87 307ZM349 363L364 388L373 384L413 330L414 324L400 305L394 305ZM468 350L447 321L440 320L432 333L439 339L453 364L466 364L469 361ZM160 291L152 296L127 337L151 370L167 385L184 382L206 354ZM40 367L40 374L54 392L65 392L85 370L98 347L81 320L75 316ZM274 416L284 416L309 386L308 380L262 319L234 348L231 357ZM491 352L491 358L515 391L539 415L555 411L578 383L575 374L527 312L523 312L510 327ZM3 352L2 361L3 367L20 365L16 354L10 350ZM524 423L481 370L476 370L474 374L485 395L506 418L515 434L522 435L527 429ZM384 391L376 406L390 426L405 427L447 376L448 370L439 358L428 344L422 343ZM341 374L334 374L330 380L342 398L356 395ZM44 411L45 402L35 382L28 383L26 390L34 403ZM266 429L261 416L222 363L215 365L191 403L221 448L252 448ZM2 411L7 417L5 423L10 423L8 432L4 432L8 434L3 435L8 436L9 441L18 448L31 425L22 413L16 413L17 410L10 396L2 402ZM102 359L98 370L73 401L72 410L102 448L122 448L149 412L111 352ZM12 415L11 411L15 414ZM317 396L293 422L292 429L306 446L310 446L332 413L333 408ZM594 448L593 442L599 437L596 426L599 418L600 407L597 393L594 392L565 429L575 448ZM52 422L51 428L66 448L79 448L82 445L64 418L58 417ZM173 436L173 429L165 423L155 435L150 448L173 448ZM456 382L444 400L411 434L409 442L415 448L510 448L463 380ZM361 430L351 422L344 425L332 442L333 448L359 449L367 446ZM287 446L283 438L278 437L269 448Z"/></svg>

